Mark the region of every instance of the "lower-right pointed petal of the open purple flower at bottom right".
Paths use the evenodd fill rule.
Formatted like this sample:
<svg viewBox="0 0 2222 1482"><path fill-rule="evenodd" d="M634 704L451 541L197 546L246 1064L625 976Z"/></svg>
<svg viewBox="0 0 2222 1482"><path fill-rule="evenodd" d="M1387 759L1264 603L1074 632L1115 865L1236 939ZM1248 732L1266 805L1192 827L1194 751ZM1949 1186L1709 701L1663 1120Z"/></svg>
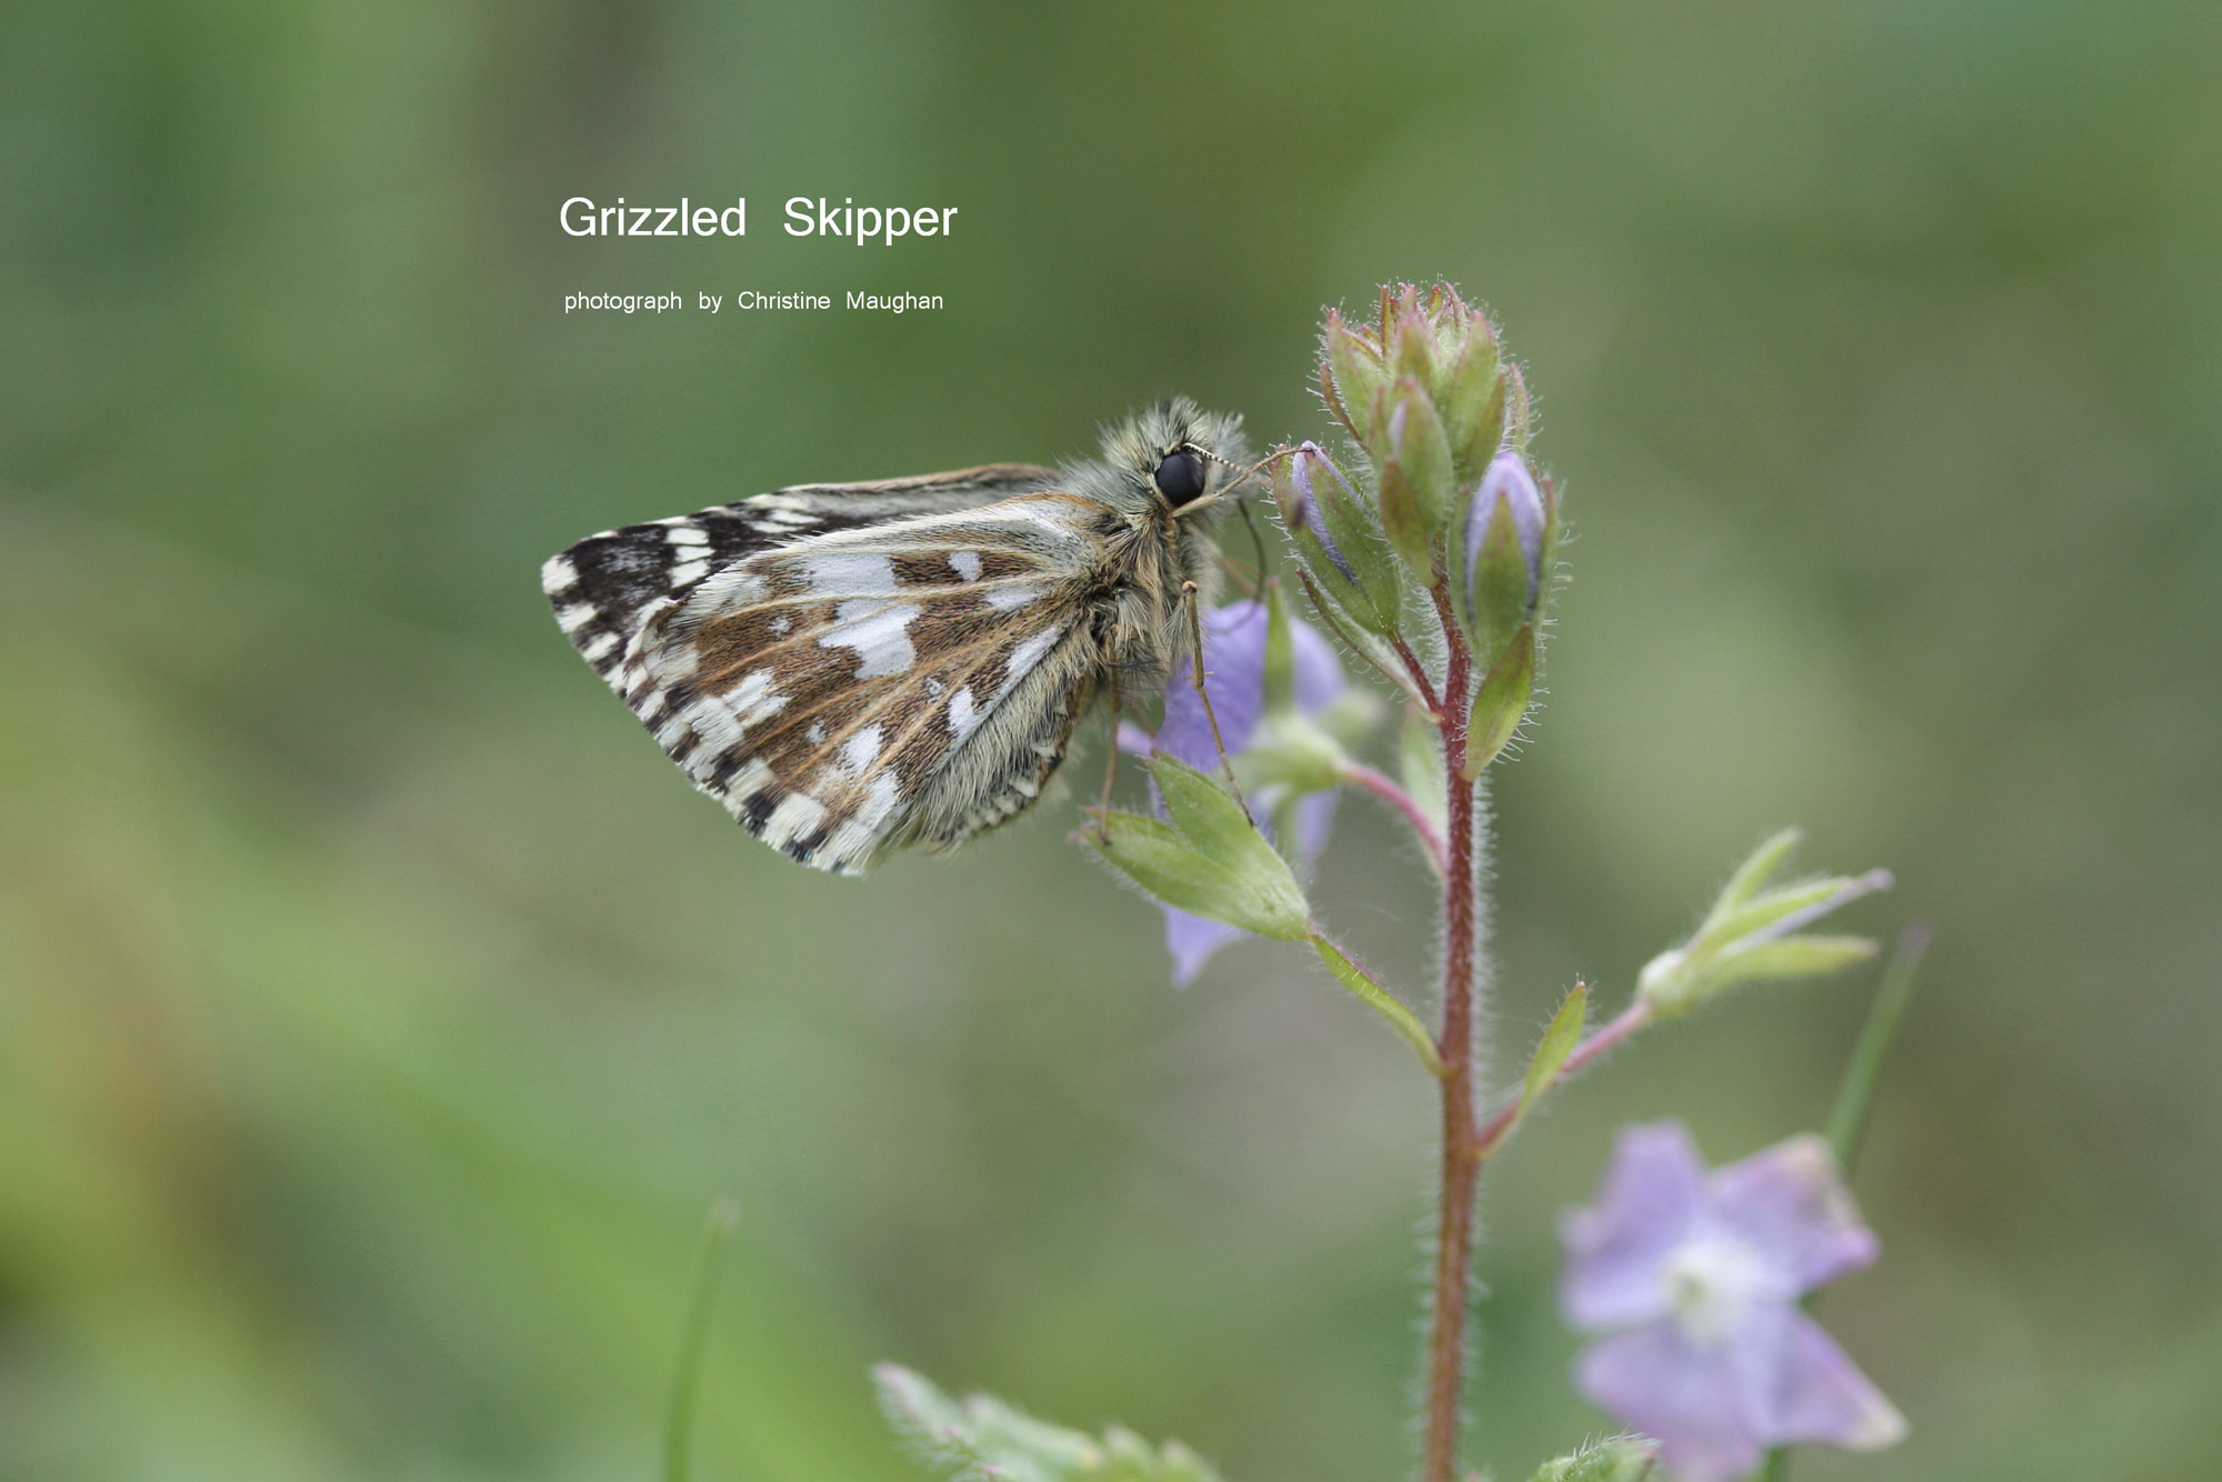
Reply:
<svg viewBox="0 0 2222 1482"><path fill-rule="evenodd" d="M1753 1431L1769 1446L1878 1451L1906 1433L1898 1406L1795 1306L1753 1311L1731 1340L1729 1362Z"/></svg>

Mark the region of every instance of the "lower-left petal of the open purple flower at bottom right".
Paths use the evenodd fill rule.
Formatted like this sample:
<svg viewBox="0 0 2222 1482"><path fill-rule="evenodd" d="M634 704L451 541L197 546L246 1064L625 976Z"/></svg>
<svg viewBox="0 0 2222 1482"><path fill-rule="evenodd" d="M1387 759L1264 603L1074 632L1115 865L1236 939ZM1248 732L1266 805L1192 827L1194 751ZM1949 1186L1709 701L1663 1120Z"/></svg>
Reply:
<svg viewBox="0 0 2222 1482"><path fill-rule="evenodd" d="M1673 1320L1604 1338L1573 1362L1582 1398L1660 1442L1682 1482L1726 1482L1760 1464L1744 1384L1726 1349L1700 1349Z"/></svg>

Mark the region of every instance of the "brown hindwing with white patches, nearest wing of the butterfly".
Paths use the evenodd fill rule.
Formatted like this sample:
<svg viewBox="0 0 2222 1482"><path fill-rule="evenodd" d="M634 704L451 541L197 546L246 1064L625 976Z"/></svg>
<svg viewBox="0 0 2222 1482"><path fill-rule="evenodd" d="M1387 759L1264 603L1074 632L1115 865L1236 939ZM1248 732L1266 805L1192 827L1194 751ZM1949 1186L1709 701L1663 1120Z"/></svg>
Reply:
<svg viewBox="0 0 2222 1482"><path fill-rule="evenodd" d="M793 860L862 871L1020 811L1100 660L1115 513L1038 491L791 540L640 609L607 675L702 791Z"/></svg>

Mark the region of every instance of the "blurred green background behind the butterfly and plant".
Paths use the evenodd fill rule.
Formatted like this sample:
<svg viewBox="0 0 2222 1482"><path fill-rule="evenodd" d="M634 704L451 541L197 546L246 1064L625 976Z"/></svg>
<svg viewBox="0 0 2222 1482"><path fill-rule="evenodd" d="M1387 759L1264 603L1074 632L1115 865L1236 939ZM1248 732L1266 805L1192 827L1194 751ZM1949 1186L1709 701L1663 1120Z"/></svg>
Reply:
<svg viewBox="0 0 2222 1482"><path fill-rule="evenodd" d="M1802 1478L2222 1451L2222 11L73 4L0 20L0 1475L915 1475L898 1358L1238 1482L1409 1466L1409 1053L1293 949L1167 987L1073 800L793 869L536 569L798 480L1318 435L1320 304L1489 302L1578 540L1500 784L1500 1040L1782 822L1938 940ZM562 198L747 193L744 242ZM787 196L960 207L778 231ZM562 313L569 291L942 313ZM1095 775L1089 753L1073 775ZM1080 789L1084 791L1084 789ZM1424 978L1349 802L1324 909ZM1478 1462L1604 1426L1553 1215L1631 1118L1818 1124L1873 975L1660 1031L1495 1164Z"/></svg>

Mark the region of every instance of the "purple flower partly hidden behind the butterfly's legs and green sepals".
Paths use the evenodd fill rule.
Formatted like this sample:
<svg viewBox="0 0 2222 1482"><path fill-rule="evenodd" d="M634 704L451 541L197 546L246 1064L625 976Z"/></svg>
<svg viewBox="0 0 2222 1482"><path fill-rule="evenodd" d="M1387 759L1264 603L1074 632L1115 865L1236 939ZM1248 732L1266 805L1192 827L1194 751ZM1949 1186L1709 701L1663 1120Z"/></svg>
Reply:
<svg viewBox="0 0 2222 1482"><path fill-rule="evenodd" d="M1313 718L1342 693L1342 660L1311 627L1291 618L1295 640L1295 709ZM1220 735L1227 753L1235 755L1258 735L1264 720L1264 602L1229 602L1204 613L1204 689L1211 691L1211 709L1220 718ZM1211 744L1211 722L1204 704L1195 698L1195 682L1189 678L1189 660L1180 658L1164 682L1164 722L1158 735L1144 735L1135 727L1120 727L1120 744L1129 751L1169 751L1198 771L1215 773L1220 767L1218 747ZM1264 813L1275 804L1271 789L1251 795L1251 809ZM1295 860L1307 864L1327 849L1327 831L1335 820L1335 793L1311 793L1295 804ZM1173 953L1173 984L1187 987L1204 969L1220 947L1247 935L1240 927L1207 922L1200 915L1162 907L1164 947Z"/></svg>

